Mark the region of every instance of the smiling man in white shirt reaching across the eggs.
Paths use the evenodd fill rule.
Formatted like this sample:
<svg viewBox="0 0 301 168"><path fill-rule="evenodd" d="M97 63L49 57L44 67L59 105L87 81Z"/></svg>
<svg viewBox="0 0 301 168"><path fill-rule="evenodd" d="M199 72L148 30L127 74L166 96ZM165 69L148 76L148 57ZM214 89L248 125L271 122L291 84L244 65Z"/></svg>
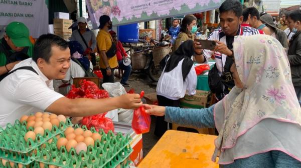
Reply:
<svg viewBox="0 0 301 168"><path fill-rule="evenodd" d="M18 69L27 66L28 69ZM22 115L48 111L66 116L87 116L116 108L132 109L142 102L139 94L105 99L69 99L53 90L53 79L63 79L70 66L67 41L54 34L39 37L33 58L16 64L13 73L0 82L0 126Z"/></svg>

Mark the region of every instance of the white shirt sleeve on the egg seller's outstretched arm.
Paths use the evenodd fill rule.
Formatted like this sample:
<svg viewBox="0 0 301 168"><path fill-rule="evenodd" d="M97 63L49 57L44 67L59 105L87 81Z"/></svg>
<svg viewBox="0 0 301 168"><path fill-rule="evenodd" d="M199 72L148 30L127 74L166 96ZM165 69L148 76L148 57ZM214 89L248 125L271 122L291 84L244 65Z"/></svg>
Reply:
<svg viewBox="0 0 301 168"><path fill-rule="evenodd" d="M50 89L39 78L33 77L19 84L14 94L19 103L28 104L40 109L46 109L64 95Z"/></svg>

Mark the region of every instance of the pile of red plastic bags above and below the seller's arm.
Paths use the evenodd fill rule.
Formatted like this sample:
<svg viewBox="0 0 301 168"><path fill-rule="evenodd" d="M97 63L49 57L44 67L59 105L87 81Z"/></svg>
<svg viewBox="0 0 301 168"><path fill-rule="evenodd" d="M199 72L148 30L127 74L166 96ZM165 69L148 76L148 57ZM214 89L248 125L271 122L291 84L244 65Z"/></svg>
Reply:
<svg viewBox="0 0 301 168"><path fill-rule="evenodd" d="M100 99L100 98L108 98L109 93L106 90L99 89L98 86L88 80L80 81L81 87L76 88L72 85L71 90L66 95L68 98L93 98L93 99ZM105 117L107 112L85 116L82 119L82 124L86 125L87 128L90 129L91 126L94 126L98 131L100 128L104 129L107 133L109 130L114 131L114 124L111 118Z"/></svg>

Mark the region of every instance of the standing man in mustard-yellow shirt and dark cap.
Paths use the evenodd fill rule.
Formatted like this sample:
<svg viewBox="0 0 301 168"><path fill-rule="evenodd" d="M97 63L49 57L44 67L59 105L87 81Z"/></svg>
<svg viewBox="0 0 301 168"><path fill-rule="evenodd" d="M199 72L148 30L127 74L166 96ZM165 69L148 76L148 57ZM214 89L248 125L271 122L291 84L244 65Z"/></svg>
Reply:
<svg viewBox="0 0 301 168"><path fill-rule="evenodd" d="M103 74L103 82L114 82L114 69L118 66L116 44L108 32L112 29L112 21L108 15L99 17L99 32L96 37L97 50L100 55L99 66Z"/></svg>

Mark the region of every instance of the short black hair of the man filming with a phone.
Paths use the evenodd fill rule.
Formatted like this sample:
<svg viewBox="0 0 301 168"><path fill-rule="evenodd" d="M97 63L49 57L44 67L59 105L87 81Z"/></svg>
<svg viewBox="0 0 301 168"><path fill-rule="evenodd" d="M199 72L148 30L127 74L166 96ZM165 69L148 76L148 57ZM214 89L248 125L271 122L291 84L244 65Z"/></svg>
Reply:
<svg viewBox="0 0 301 168"><path fill-rule="evenodd" d="M219 7L219 12L233 11L237 17L242 16L242 4L238 0L225 0Z"/></svg>

